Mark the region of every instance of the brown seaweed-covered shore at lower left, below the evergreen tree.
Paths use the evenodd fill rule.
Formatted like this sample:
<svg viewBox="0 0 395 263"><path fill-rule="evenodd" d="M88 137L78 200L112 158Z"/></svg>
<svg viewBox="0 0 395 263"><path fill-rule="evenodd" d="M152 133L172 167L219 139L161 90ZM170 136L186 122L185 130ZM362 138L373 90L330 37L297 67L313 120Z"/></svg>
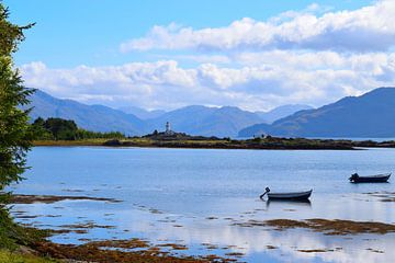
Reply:
<svg viewBox="0 0 395 263"><path fill-rule="evenodd" d="M53 204L63 201L97 201L104 203L117 203L114 198L91 197L91 196L63 196L63 195L12 195L9 205L14 204ZM34 216L16 216L15 218L35 218ZM18 243L14 250L0 250L1 259L18 259L16 262L49 263L49 262L236 262L241 254L229 253L226 255L207 254L184 254L182 251L189 250L189 247L178 242L166 241L163 243L153 243L143 238L104 238L99 240L86 239L78 243L58 243L50 241L49 238L64 233L86 233L94 228L113 228L113 226L102 226L94 222L61 225L60 229L40 228L34 224L16 222L16 226L32 236L27 243ZM8 262L14 262L9 260Z"/></svg>

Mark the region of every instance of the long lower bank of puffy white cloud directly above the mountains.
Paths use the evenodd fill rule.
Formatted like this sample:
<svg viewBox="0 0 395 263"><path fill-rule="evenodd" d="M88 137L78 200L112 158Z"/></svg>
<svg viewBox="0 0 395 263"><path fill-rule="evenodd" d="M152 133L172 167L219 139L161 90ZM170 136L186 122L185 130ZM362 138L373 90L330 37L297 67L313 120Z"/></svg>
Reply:
<svg viewBox="0 0 395 263"><path fill-rule="evenodd" d="M395 54L271 50L240 53L233 66L181 67L174 60L53 69L21 67L25 84L59 98L109 106L171 110L190 104L268 110L286 103L316 106L395 84Z"/></svg>

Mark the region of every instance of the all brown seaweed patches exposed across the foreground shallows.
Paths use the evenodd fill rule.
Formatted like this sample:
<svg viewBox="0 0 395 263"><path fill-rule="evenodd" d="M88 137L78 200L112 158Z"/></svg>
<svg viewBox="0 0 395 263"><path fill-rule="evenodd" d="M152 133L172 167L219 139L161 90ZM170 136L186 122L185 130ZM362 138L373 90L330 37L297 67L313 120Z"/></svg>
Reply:
<svg viewBox="0 0 395 263"><path fill-rule="evenodd" d="M386 198L393 196L395 193L392 192L371 192L364 193L372 195L381 202L387 202ZM104 202L104 203L117 203L122 202L115 198L109 197L92 197L89 195L27 195L27 194L15 194L10 198L10 205L14 204L34 204L44 203L53 204L63 201L92 201L92 202ZM151 211L156 214L157 211ZM206 217L205 220L218 219L218 217ZM36 220L34 215L19 214L15 218L30 218ZM382 237L383 235L394 235L395 225L393 222L374 221L374 220L348 220L348 219L328 219L325 217L311 217L307 219L286 219L286 217L276 217L272 219L255 219L248 217L238 218L223 218L226 220L226 225L229 227L240 229L256 229L257 231L292 231L293 229L300 229L301 231L308 231L316 235L323 235L329 239L343 237L345 239L353 239L359 235L374 235L374 237ZM82 243L58 243L50 241L49 238L56 235L78 233L83 235L92 229L115 229L115 226L103 225L97 221L88 222L75 222L64 225L47 225L45 228L34 226L34 222L21 224L18 222L22 229L31 233L41 233L38 239L29 242L27 245L21 245L16 254L12 254L11 251L4 251L3 253L11 253L9 256L37 256L37 262L32 263L49 263L49 262L244 262L244 259L248 256L248 253L233 250L234 243L216 243L216 242L202 242L201 245L205 249L203 254L201 253L184 253L190 251L193 245L183 243L178 240L163 239L160 242L144 238L144 237L126 237L117 239L109 236L102 239L80 239ZM58 227L58 228L57 228ZM44 236L45 235L45 236ZM36 236L36 235L34 235ZM199 242L198 242L199 243ZM278 247L273 245L273 242L268 240L264 244L267 251L276 250ZM222 252L214 251L221 248ZM373 248L373 249L372 249ZM334 251L341 251L345 247L337 245L321 245L319 248L313 247L295 247L294 251L298 253L326 253ZM383 248L369 247L372 253L385 253L386 250ZM27 251L27 252L23 252ZM0 256L1 256L0 251ZM22 253L22 254L21 254ZM1 258L0 258L1 259ZM21 258L21 261L24 262ZM40 261L38 261L40 260ZM45 261L44 261L45 260ZM13 261L8 261L13 262ZM29 261L30 262L30 261Z"/></svg>

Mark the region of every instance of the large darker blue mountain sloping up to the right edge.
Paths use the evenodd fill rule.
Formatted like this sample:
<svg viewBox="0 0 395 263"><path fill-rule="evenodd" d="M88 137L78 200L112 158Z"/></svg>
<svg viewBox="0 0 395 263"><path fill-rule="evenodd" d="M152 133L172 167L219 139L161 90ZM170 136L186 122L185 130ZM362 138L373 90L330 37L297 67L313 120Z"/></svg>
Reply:
<svg viewBox="0 0 395 263"><path fill-rule="evenodd" d="M395 88L380 88L361 96L348 96L319 107L297 112L257 130L290 137L395 137ZM247 133L248 132L248 133Z"/></svg>

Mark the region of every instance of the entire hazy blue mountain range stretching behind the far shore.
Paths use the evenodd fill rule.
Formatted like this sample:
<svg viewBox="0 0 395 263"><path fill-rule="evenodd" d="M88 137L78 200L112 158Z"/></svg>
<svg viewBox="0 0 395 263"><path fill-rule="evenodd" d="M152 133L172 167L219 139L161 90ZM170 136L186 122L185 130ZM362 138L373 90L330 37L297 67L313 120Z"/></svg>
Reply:
<svg viewBox="0 0 395 263"><path fill-rule="evenodd" d="M233 106L192 105L174 111L146 111L129 106L114 110L60 100L37 90L31 98L31 117L61 117L95 132L119 130L145 135L163 130L170 122L176 132L217 137L395 137L395 88L379 88L360 96L347 96L312 108L285 105L270 112L248 112Z"/></svg>

